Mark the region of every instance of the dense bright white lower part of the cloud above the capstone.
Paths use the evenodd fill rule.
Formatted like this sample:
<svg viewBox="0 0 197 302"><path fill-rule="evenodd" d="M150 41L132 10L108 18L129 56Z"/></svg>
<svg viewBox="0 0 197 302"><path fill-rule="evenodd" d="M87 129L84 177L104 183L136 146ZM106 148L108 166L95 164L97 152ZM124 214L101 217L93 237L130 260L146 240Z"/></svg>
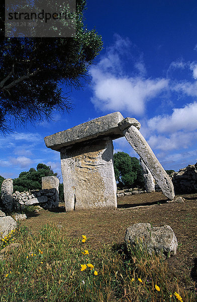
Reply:
<svg viewBox="0 0 197 302"><path fill-rule="evenodd" d="M94 97L91 98L96 108L113 111L128 111L141 115L146 102L156 97L167 88L165 79L144 80L142 78L116 78L109 75L93 75Z"/></svg>

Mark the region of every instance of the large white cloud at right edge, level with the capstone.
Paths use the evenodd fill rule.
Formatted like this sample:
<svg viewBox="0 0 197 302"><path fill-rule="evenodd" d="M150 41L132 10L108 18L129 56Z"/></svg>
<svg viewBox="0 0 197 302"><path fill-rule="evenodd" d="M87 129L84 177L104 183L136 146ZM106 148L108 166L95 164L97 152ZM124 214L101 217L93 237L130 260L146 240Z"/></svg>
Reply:
<svg viewBox="0 0 197 302"><path fill-rule="evenodd" d="M174 108L171 115L153 117L148 121L148 127L150 130L157 130L159 133L196 130L197 102L186 104L183 108Z"/></svg>

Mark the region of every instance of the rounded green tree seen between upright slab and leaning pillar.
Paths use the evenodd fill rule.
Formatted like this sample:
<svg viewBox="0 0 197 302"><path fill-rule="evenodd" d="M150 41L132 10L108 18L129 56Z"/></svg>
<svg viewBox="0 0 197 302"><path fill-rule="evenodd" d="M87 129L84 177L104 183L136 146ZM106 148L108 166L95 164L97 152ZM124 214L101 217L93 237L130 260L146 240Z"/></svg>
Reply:
<svg viewBox="0 0 197 302"><path fill-rule="evenodd" d="M129 154L114 154L114 172L119 188L144 187L144 178L139 160Z"/></svg>

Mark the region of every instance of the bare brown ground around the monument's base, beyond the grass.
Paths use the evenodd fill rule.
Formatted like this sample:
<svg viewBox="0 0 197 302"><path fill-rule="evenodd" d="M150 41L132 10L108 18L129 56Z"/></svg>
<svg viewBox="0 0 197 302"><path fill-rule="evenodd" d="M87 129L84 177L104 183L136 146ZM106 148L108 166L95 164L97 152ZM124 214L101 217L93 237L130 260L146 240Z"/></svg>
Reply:
<svg viewBox="0 0 197 302"><path fill-rule="evenodd" d="M185 287L196 289L197 281L197 194L181 195L184 202L167 202L161 192L129 195L118 198L117 209L81 210L65 213L63 204L56 210L29 213L21 221L36 232L47 222L54 222L67 236L86 235L91 248L103 244L122 243L128 226L149 222L153 226L168 224L178 241L177 254L168 265Z"/></svg>

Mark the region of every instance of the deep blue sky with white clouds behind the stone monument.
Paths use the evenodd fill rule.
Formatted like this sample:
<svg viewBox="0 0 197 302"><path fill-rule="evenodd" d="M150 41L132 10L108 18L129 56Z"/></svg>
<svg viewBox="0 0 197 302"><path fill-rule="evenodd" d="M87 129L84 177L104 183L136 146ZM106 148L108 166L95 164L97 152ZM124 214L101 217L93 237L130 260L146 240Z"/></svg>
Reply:
<svg viewBox="0 0 197 302"><path fill-rule="evenodd" d="M90 84L71 92L70 114L54 112L54 121L0 136L0 175L16 178L39 163L61 175L60 154L44 136L116 111L141 123L164 169L196 163L196 1L87 0L85 18L104 41ZM114 149L138 157L125 138Z"/></svg>

